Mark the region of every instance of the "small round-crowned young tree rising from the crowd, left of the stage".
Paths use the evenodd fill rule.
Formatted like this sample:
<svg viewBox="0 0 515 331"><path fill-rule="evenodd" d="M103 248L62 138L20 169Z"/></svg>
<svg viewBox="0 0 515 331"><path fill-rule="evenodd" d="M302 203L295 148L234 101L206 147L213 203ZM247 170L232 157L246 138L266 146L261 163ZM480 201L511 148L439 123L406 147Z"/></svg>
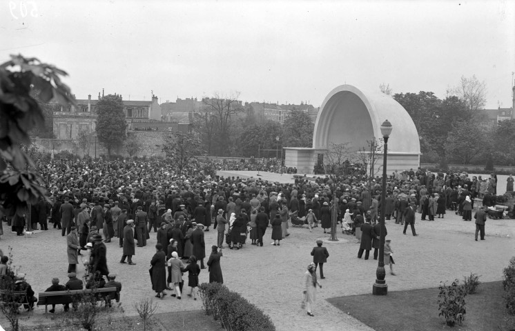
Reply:
<svg viewBox="0 0 515 331"><path fill-rule="evenodd" d="M165 139L163 152L166 157L179 169L179 174L186 166L195 159L195 156L202 156L202 142L195 138L193 134L173 132Z"/></svg>

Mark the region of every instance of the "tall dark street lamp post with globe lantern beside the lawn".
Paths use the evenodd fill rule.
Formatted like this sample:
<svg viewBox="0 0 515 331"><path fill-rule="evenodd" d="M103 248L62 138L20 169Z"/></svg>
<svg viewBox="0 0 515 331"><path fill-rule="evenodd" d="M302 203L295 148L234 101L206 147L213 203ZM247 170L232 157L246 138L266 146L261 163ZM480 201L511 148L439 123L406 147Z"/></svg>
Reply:
<svg viewBox="0 0 515 331"><path fill-rule="evenodd" d="M391 123L386 120L381 124L382 138L385 140L384 154L382 156L382 191L381 191L381 216L380 232L379 232L379 262L376 270L376 283L372 285L373 295L387 295L388 285L385 281L385 199L386 199L386 181L387 181L387 150L388 150L388 138L390 137Z"/></svg>

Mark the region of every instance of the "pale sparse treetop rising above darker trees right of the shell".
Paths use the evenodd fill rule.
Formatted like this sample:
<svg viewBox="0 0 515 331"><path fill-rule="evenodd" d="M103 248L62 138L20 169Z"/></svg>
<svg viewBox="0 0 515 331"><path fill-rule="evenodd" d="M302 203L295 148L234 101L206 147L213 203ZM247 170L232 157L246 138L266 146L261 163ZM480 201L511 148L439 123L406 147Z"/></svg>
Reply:
<svg viewBox="0 0 515 331"><path fill-rule="evenodd" d="M454 88L447 90L447 94L455 95L462 99L467 108L472 111L473 114L477 114L477 111L485 108L487 101L487 84L485 81L479 81L476 75L467 78L462 76L460 83Z"/></svg>

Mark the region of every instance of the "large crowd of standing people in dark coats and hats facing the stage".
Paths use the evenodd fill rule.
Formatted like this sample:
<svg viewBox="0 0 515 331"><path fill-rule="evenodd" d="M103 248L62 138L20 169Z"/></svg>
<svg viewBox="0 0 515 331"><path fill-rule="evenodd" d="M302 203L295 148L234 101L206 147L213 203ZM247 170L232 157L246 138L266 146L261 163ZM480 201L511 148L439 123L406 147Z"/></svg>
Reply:
<svg viewBox="0 0 515 331"><path fill-rule="evenodd" d="M31 205L26 215L15 215L5 221L19 235L36 230L38 225L41 230L48 230L50 222L53 228L61 230L63 237L67 236L71 281L65 285L68 289L83 286L75 281L81 257L88 275L86 288L111 285L121 290L121 283L115 281L116 275L108 270L106 243L117 237L122 248L119 262L135 265L132 259L135 247L145 246L153 229L157 245L150 260L150 279L156 297L163 298L168 290L173 293L172 297L182 299L182 274L188 272L191 288L188 297L196 299L198 276L206 268L204 232L211 227L217 232L217 240L206 262L209 281L223 283L220 258L224 248L239 250L247 241L262 247L269 227L272 244L280 246L289 236L293 218L307 223L310 230L320 226L324 232L329 232L331 207L335 201L338 201L334 207L342 231L360 241L358 257L365 252L368 259L373 248L373 257L377 259L380 245L377 221L382 206L380 177L296 175L295 183L286 184L259 178L211 176L199 171L200 163L192 164L177 174L172 165L161 159L60 159L37 163L37 170L46 181L50 203L41 199ZM243 161L239 164L223 162L219 168L270 171L277 166L273 161ZM455 210L465 221L470 221L474 198L482 198L485 206L494 204L496 199L494 174L488 179L469 178L467 174L435 174L418 168L416 172L393 172L387 182L385 218L393 217L396 223L404 224L404 233L411 225L414 236L417 235L416 212L422 214L422 220L429 217L432 221L436 216L444 217L449 210ZM484 223L483 229L478 230L484 239ZM389 243L385 252L393 253ZM320 260L320 254L316 255ZM389 255L385 261L390 263L393 274L393 257ZM317 285L313 270L320 265L320 278L324 279L324 262L314 263L305 281ZM62 287L53 279L48 290L57 288ZM311 315L311 310L308 312Z"/></svg>

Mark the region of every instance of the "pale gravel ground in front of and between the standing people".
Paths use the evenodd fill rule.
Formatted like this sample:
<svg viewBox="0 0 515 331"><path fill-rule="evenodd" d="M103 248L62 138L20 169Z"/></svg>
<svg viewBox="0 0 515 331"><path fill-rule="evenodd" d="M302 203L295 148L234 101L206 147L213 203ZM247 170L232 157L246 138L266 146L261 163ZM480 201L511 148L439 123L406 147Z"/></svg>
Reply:
<svg viewBox="0 0 515 331"><path fill-rule="evenodd" d="M396 273L387 274L389 291L433 288L440 281L474 272L480 274L480 281L502 279L503 268L514 255L515 220L492 220L486 225L485 241L474 241L474 222L461 221L460 217L446 214L445 219L434 222L419 221L417 214L416 230L418 237L402 234L401 225L393 221L387 223L388 238L395 252ZM1 237L0 248L4 253L12 246L14 265L21 266L35 292L50 286L52 277L59 277L66 283L66 239L58 230L35 233L31 238L17 237L10 233L4 223L5 235ZM376 279L377 261L358 260L358 244L343 234L344 243L324 244L329 250L329 262L324 265L327 279L321 280L323 288L318 290L318 301L313 309L315 317L307 316L300 309L302 296L302 274L312 261L310 252L316 239L327 239L322 229L309 232L306 228L290 228L291 236L280 246L270 245L271 228L266 231L264 247L246 244L242 250L225 249L222 257L222 270L225 284L231 290L240 292L246 299L255 303L269 314L278 330L371 330L367 325L341 312L325 299L351 294L371 293ZM215 243L215 231L206 233L208 248ZM150 289L148 268L154 253L155 234L145 248L136 248L133 261L137 265L118 263L122 248L117 240L107 243L108 267L118 274L122 282L122 303L125 314L135 315L133 303L144 297L153 297ZM78 277L84 268L79 265ZM187 277L184 277L187 279ZM208 281L207 270L202 270L200 282ZM436 302L436 298L428 298ZM158 299L157 299L158 300ZM159 300L158 312L180 310L200 310L199 300L184 296L181 301L171 298ZM364 308L366 309L366 308ZM436 305L435 305L436 312ZM37 322L44 315L38 308L30 318Z"/></svg>

